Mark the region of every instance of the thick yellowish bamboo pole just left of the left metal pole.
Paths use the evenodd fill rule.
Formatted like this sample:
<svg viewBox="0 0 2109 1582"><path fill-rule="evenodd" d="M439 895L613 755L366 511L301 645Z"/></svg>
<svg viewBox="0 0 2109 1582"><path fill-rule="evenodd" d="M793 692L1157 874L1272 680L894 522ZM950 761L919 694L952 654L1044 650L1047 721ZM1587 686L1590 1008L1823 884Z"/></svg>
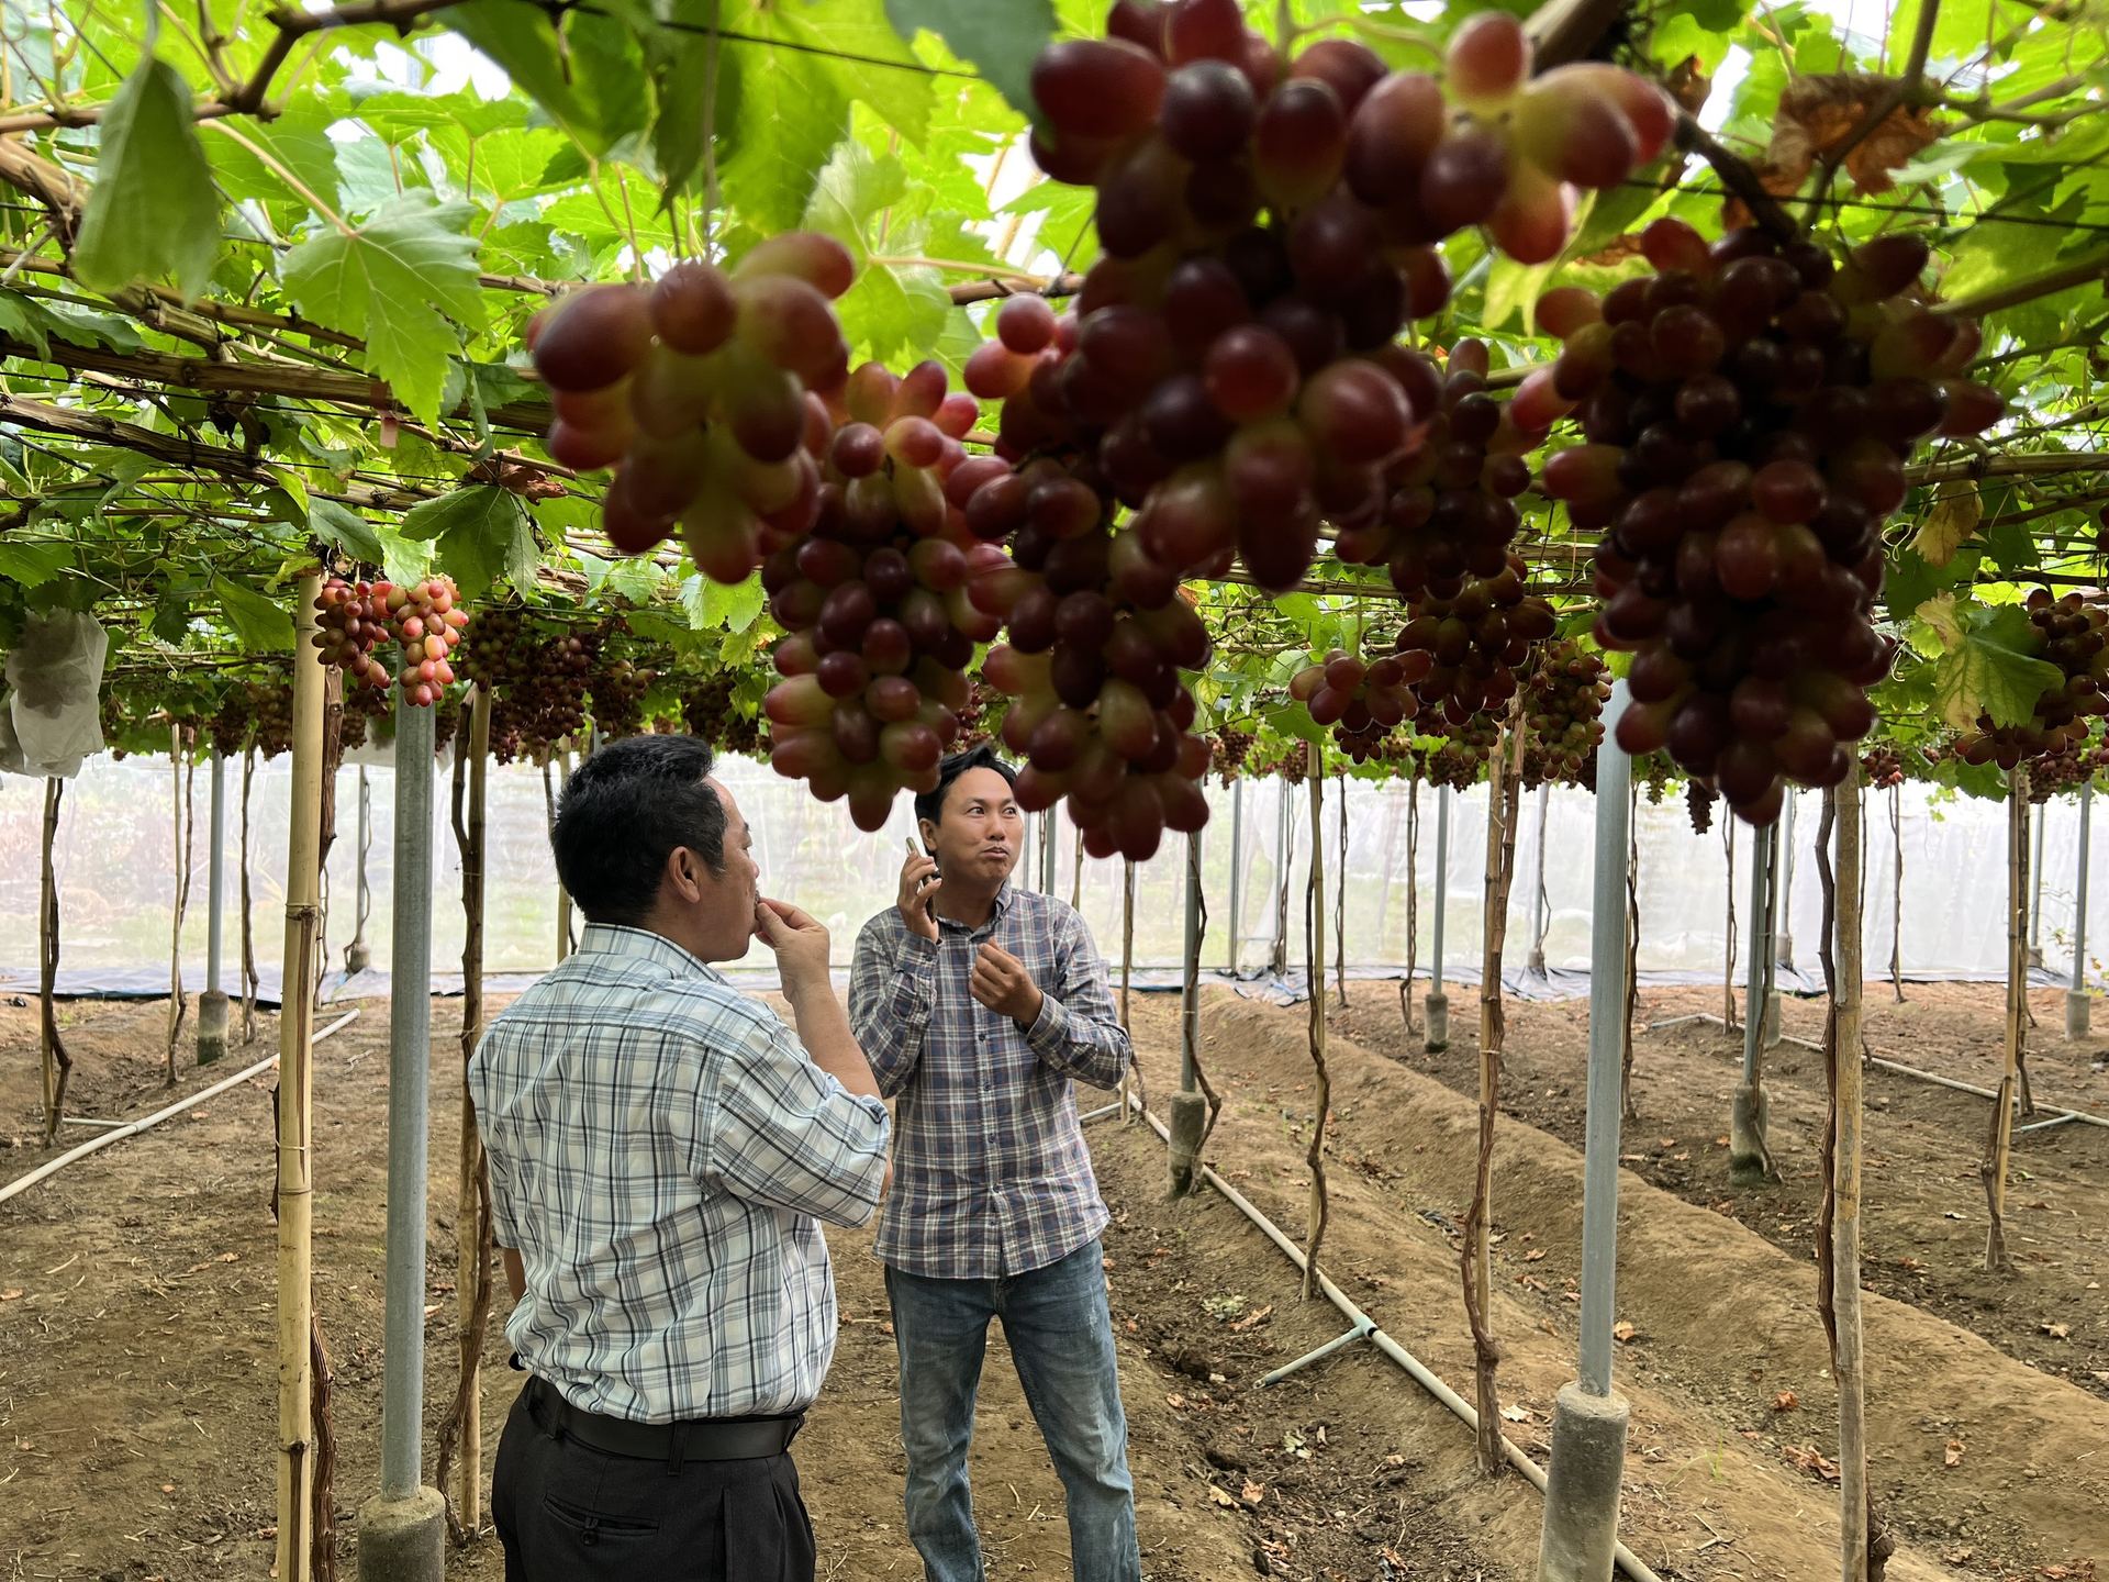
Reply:
<svg viewBox="0 0 2109 1582"><path fill-rule="evenodd" d="M293 610L293 793L285 856L285 968L278 991L278 1582L312 1582L308 1544L314 1487L312 1420L312 1211L308 1152L318 854L323 844L323 656L314 648L314 597L323 578L299 578Z"/></svg>

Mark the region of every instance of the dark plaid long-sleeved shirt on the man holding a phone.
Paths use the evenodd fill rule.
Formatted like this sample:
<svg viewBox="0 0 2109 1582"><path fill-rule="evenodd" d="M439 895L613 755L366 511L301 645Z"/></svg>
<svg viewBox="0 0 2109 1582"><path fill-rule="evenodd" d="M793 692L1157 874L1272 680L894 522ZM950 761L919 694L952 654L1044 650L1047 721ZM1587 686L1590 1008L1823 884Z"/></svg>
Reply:
<svg viewBox="0 0 2109 1582"><path fill-rule="evenodd" d="M1027 1029L974 1000L983 941L1046 996ZM993 1278L1067 1257L1105 1230L1071 1078L1111 1088L1128 1065L1105 962L1054 896L1004 886L968 930L911 934L896 907L865 924L850 1025L894 1105L894 1188L873 1251L907 1274Z"/></svg>

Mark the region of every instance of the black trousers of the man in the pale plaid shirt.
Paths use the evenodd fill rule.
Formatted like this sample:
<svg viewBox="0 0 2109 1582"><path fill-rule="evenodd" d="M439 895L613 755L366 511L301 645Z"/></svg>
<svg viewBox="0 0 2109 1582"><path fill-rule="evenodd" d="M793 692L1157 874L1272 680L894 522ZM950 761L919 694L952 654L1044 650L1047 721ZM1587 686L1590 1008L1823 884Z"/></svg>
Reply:
<svg viewBox="0 0 2109 1582"><path fill-rule="evenodd" d="M607 1455L557 1439L521 1392L491 1474L506 1582L812 1582L791 1453L751 1462Z"/></svg>

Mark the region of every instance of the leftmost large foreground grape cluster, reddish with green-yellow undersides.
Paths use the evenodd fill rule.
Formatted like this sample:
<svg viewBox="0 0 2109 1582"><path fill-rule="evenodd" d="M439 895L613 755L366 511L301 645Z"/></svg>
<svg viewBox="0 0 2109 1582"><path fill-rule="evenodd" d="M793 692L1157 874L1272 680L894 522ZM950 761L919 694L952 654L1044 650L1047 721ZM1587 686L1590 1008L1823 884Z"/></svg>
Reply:
<svg viewBox="0 0 2109 1582"><path fill-rule="evenodd" d="M850 350L831 306L848 249L816 232L753 247L728 276L681 259L650 287L574 291L527 329L557 422L548 454L616 466L603 523L624 555L679 525L696 565L744 582L818 513Z"/></svg>

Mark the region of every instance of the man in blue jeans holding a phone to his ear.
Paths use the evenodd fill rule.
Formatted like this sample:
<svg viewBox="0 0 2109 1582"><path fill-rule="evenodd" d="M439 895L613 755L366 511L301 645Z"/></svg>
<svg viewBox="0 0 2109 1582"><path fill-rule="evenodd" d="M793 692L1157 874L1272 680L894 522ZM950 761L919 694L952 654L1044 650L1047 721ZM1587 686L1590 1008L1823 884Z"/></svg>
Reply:
<svg viewBox="0 0 2109 1582"><path fill-rule="evenodd" d="M875 1251L901 1350L907 1525L928 1582L983 1582L966 1451L995 1316L1069 1496L1076 1580L1137 1582L1107 1213L1073 1097L1073 1082L1120 1082L1128 1034L1084 920L1010 886L1025 833L1012 787L987 747L945 759L915 797L934 861L909 856L850 975L850 1023L898 1099Z"/></svg>

